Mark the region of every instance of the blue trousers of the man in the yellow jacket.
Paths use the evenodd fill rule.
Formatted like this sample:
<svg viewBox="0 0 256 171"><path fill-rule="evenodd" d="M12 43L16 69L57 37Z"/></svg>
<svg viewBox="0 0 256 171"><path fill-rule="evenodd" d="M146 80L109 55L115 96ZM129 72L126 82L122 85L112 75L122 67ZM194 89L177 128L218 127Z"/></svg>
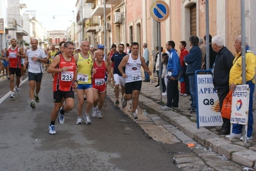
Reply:
<svg viewBox="0 0 256 171"><path fill-rule="evenodd" d="M247 128L247 136L252 136L253 131L253 114L252 114L252 107L253 107L253 92L255 85L252 81L246 82L250 88L250 99L249 99L249 115L248 115L248 128ZM233 124L233 133L240 134L242 133L243 125L240 124Z"/></svg>

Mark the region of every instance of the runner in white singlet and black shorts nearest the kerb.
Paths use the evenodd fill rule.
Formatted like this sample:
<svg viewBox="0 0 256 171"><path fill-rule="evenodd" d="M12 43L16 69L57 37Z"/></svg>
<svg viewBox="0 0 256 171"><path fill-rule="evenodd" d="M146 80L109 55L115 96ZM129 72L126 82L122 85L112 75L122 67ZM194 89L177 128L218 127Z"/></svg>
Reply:
<svg viewBox="0 0 256 171"><path fill-rule="evenodd" d="M143 56L139 55L139 44L132 43L132 53L126 55L118 66L119 71L125 78L125 94L123 95L122 106L126 106L127 101L132 99L132 117L138 118L135 111L139 102L139 93L141 92L141 66L144 71L148 72L151 76L151 71L148 69ZM125 73L123 70L125 67Z"/></svg>

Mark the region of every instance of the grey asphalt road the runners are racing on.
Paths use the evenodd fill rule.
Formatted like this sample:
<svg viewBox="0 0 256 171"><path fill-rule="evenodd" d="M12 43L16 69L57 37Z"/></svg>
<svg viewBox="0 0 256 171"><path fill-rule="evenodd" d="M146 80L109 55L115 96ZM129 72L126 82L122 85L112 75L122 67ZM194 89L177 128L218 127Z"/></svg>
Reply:
<svg viewBox="0 0 256 171"><path fill-rule="evenodd" d="M65 124L56 122L48 134L53 109L52 77L45 73L40 103L30 108L28 81L21 95L10 92L9 81L0 80L0 170L179 170L163 145L151 139L128 115L107 99L103 118L91 125L76 125L74 109ZM85 103L86 105L86 103ZM169 147L171 148L171 147Z"/></svg>

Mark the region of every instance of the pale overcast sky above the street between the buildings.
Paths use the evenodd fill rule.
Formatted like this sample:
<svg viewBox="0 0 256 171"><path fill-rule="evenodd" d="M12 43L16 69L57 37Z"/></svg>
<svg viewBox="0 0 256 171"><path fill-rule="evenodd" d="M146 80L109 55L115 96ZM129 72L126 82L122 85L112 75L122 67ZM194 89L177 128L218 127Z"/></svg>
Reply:
<svg viewBox="0 0 256 171"><path fill-rule="evenodd" d="M28 7L24 12L37 11L37 20L47 31L67 30L76 22L76 0L21 0L21 3Z"/></svg>

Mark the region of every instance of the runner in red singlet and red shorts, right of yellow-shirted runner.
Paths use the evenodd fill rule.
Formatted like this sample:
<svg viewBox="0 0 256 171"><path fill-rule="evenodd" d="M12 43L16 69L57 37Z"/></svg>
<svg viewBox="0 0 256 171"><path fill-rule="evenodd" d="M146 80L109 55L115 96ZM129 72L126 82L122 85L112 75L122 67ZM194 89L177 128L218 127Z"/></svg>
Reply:
<svg viewBox="0 0 256 171"><path fill-rule="evenodd" d="M95 61L94 61L94 74L92 75L92 88L93 88L93 108L92 108L92 117L102 118L101 109L105 100L105 92L106 92L106 84L105 84L105 76L108 73L108 82L111 81L110 77L110 67L108 67L108 63L103 61L103 51L98 50L95 53ZM98 108L97 108L98 105Z"/></svg>

